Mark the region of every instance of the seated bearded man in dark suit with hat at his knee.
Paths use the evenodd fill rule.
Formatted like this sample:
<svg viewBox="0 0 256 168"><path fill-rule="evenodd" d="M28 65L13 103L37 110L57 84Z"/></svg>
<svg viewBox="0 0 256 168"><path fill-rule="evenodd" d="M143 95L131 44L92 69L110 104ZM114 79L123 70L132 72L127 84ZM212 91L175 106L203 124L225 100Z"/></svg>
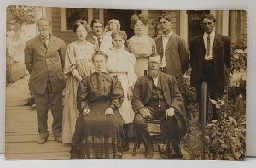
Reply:
<svg viewBox="0 0 256 168"><path fill-rule="evenodd" d="M147 127L147 120L151 119L161 120L163 135L172 143L177 156L182 157L179 141L186 133L183 98L175 77L160 72L160 65L160 55L149 56L148 74L136 81L131 101L136 113L134 126L144 143L146 158L153 157L153 146Z"/></svg>

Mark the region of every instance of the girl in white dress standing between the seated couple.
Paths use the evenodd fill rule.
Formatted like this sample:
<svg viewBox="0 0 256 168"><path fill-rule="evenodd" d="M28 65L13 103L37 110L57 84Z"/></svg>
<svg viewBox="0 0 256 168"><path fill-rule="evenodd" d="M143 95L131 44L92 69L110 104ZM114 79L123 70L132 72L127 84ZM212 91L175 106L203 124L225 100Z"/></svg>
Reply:
<svg viewBox="0 0 256 168"><path fill-rule="evenodd" d="M118 76L124 90L124 102L119 108L119 112L124 119L125 144L124 151L129 150L128 130L129 123L134 120L134 111L131 107L132 87L135 84L137 76L134 73L135 56L124 49L127 39L125 31L116 31L112 33L113 48L109 49L107 70L112 76Z"/></svg>

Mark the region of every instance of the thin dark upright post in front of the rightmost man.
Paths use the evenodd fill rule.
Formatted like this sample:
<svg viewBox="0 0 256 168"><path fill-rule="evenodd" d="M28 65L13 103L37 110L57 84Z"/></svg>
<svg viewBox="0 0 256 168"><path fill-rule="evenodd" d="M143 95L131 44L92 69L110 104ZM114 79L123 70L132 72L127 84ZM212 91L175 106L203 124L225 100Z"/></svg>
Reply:
<svg viewBox="0 0 256 168"><path fill-rule="evenodd" d="M201 159L205 160L205 126L207 112L207 83L201 86Z"/></svg>

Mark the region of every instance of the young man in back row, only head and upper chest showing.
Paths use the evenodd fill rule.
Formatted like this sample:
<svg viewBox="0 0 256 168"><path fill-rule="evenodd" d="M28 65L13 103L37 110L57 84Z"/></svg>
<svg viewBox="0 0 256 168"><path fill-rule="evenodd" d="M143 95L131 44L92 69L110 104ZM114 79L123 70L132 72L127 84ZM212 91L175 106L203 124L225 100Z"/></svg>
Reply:
<svg viewBox="0 0 256 168"><path fill-rule="evenodd" d="M99 50L103 40L103 23L101 20L92 20L90 23L91 32L86 36L86 40L95 46L96 50Z"/></svg>

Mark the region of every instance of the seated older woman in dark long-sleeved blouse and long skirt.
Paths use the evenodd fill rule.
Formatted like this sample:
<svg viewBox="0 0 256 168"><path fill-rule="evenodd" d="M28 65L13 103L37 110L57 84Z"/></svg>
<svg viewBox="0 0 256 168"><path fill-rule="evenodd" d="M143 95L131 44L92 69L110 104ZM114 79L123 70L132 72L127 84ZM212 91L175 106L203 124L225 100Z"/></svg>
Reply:
<svg viewBox="0 0 256 168"><path fill-rule="evenodd" d="M81 81L78 89L80 111L71 148L71 158L122 158L124 131L118 108L124 98L116 76L106 70L108 56L92 55L96 72Z"/></svg>

